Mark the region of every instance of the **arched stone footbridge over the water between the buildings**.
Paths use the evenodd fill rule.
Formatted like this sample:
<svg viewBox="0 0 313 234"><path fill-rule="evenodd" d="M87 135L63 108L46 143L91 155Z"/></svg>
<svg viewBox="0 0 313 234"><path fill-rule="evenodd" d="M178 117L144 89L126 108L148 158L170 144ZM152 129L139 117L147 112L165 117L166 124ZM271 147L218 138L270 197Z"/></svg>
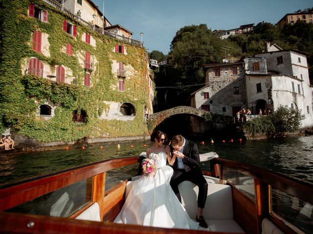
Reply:
<svg viewBox="0 0 313 234"><path fill-rule="evenodd" d="M159 125L162 121L171 116L179 114L189 114L192 116L198 116L205 119L211 119L211 113L208 111L204 111L190 106L177 106L171 109L167 109L165 111L160 111L151 114L147 119L149 134L151 134L153 130L156 128L156 126Z"/></svg>

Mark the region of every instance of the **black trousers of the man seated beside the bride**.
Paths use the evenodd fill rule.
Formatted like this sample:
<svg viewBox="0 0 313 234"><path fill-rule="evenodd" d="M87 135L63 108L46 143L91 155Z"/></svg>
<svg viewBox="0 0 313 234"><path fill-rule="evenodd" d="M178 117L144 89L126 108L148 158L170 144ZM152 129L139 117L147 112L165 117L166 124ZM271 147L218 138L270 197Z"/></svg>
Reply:
<svg viewBox="0 0 313 234"><path fill-rule="evenodd" d="M195 168L189 170L188 172L185 169L176 169L171 177L170 185L179 199L181 203L181 196L179 193L178 185L185 180L189 180L192 183L196 184L199 187L199 194L198 194L198 207L204 208L206 196L207 196L207 182L203 177L203 174L200 168Z"/></svg>

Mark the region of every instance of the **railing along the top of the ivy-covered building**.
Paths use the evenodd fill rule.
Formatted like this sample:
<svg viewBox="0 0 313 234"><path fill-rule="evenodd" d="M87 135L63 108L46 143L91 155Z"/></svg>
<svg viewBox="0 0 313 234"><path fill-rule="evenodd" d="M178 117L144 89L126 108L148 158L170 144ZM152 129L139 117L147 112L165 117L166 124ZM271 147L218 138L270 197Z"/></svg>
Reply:
<svg viewBox="0 0 313 234"><path fill-rule="evenodd" d="M103 30L101 28L97 28L93 24L83 20L82 18L78 17L77 15L74 15L73 13L71 13L70 11L65 9L62 5L60 5L59 3L55 2L55 1L52 1L52 0L44 0L44 1L46 3L48 3L49 5L53 6L54 8L57 8L60 11L65 12L71 18L79 21L80 23L84 24L86 27L89 27L91 30L93 30L93 31L95 31L95 32L97 32L97 33L99 33L101 35L104 35L104 36L107 36L107 37L110 37L110 38L114 38L114 39L118 39L118 40L122 40L122 41L125 41L125 42L128 42L128 43L132 43L132 44L134 44L136 46L143 47L143 43L138 41L138 40L134 40L134 39L126 38L126 37L123 37L123 36L119 36L117 34L113 34L113 33L110 33L108 31L105 31L105 30Z"/></svg>

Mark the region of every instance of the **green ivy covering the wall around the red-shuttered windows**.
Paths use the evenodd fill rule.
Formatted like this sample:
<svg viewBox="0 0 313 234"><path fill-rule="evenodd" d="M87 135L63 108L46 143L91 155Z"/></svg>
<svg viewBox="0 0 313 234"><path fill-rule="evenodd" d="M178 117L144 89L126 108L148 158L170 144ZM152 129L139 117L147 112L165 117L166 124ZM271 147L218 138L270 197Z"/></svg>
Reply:
<svg viewBox="0 0 313 234"><path fill-rule="evenodd" d="M30 2L48 10L47 23L28 16ZM2 0L2 8L1 127L10 126L11 131L43 142L73 141L84 137L132 137L147 132L143 113L144 106L149 106L149 84L145 78L148 71L144 48L97 34L42 0ZM77 26L76 38L63 31L64 19ZM48 35L50 57L32 49L34 30ZM83 33L89 33L95 39L95 47L81 40ZM62 52L67 43L73 46L73 56ZM124 44L127 55L115 53L115 43ZM85 51L96 60L96 69L90 75L91 87L83 85L85 70L78 59ZM22 62L32 57L51 68L58 65L69 68L74 77L72 84L24 75ZM111 87L118 82L112 74L112 60L134 68L134 75L125 79L124 92ZM36 115L39 106L46 101L56 106L55 116L49 120ZM108 114L110 107L104 101L132 103L136 110L134 120L100 119L103 112ZM85 123L72 121L75 110L87 113Z"/></svg>

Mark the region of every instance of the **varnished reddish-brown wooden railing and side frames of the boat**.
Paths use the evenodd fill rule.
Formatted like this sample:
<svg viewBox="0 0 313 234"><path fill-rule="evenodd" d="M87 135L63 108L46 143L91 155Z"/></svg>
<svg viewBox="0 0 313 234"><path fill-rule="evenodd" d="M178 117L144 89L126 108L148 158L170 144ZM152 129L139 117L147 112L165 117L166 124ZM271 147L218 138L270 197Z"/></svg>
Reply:
<svg viewBox="0 0 313 234"><path fill-rule="evenodd" d="M8 184L0 185L0 232L10 233L124 233L123 225L111 222L119 212L124 202L125 188L128 180L105 191L106 172L139 161L140 157L108 159L85 166L63 170L53 175L36 176ZM225 168L232 168L254 178L255 201L232 184L233 208L235 220L246 233L261 234L261 222L267 217L285 233L296 233L293 227L288 227L280 217L270 211L271 186L289 193L305 202L313 204L313 184L296 178L273 173L265 169L246 165L231 160L214 158L210 161L211 173L206 175L219 176L223 179ZM34 198L67 187L81 180L92 177L92 199L89 204L71 215L69 218L43 215L27 215L5 212ZM100 206L100 216L105 222L93 222L73 219L90 207L94 202ZM57 224L57 225L56 225ZM160 229L130 225L128 233L199 233L201 231ZM206 232L207 233L207 232Z"/></svg>

